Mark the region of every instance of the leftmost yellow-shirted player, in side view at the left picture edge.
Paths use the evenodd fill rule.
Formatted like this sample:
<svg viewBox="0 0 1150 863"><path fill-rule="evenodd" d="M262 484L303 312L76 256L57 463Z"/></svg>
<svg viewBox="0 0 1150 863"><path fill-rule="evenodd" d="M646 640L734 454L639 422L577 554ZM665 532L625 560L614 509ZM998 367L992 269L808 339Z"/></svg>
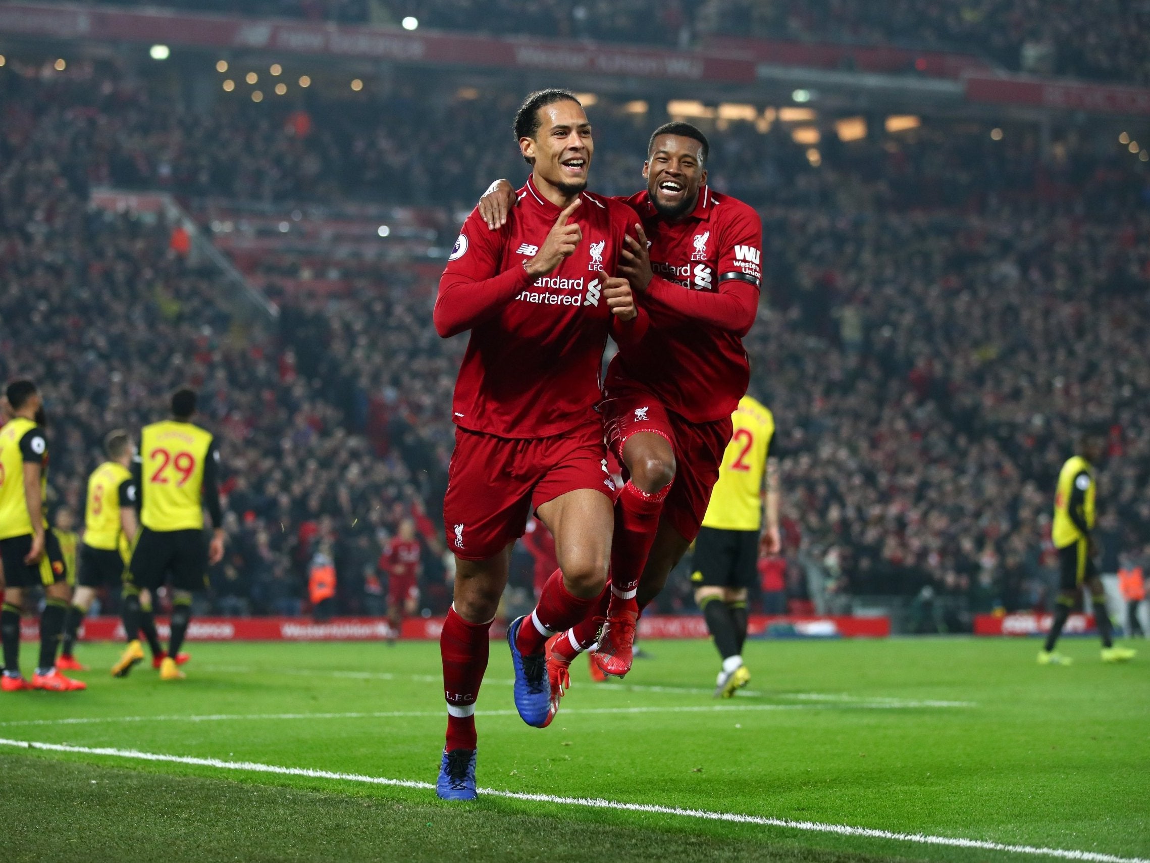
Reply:
<svg viewBox="0 0 1150 863"><path fill-rule="evenodd" d="M0 428L0 565L5 578L0 689L86 689L85 683L66 678L55 667L71 588L60 543L44 517L48 443L40 394L31 381L17 380L8 384L5 396L8 421ZM24 590L33 587L44 588L46 602L40 614L40 659L29 683L20 671L20 614Z"/></svg>

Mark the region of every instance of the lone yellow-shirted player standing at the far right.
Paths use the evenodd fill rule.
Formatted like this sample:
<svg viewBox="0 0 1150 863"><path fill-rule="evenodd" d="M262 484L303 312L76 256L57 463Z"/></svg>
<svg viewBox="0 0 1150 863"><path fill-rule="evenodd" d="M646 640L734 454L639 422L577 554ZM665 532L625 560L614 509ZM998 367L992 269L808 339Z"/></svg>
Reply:
<svg viewBox="0 0 1150 863"><path fill-rule="evenodd" d="M1094 465L1102 458L1104 446L1105 438L1101 434L1088 432L1079 441L1078 452L1066 459L1058 474L1055 520L1050 528L1050 539L1058 549L1060 571L1058 602L1055 608L1055 620L1050 632L1046 633L1046 643L1038 652L1040 665L1071 664L1070 657L1055 652L1055 646L1083 586L1090 589L1090 596L1094 598L1095 626L1102 637L1102 660L1127 662L1133 659L1136 652L1129 648L1116 647L1113 643L1113 627L1106 613L1106 591L1094 563L1097 555L1091 534L1097 496Z"/></svg>

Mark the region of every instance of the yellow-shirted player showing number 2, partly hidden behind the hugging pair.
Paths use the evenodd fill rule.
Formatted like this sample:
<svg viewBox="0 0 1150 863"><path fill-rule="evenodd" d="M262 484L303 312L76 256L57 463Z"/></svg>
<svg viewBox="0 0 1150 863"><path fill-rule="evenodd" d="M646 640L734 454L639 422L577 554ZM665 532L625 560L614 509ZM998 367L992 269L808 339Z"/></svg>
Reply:
<svg viewBox="0 0 1150 863"><path fill-rule="evenodd" d="M750 681L743 664L746 641L746 591L758 578L759 547L779 551L779 475L768 458L775 418L750 396L731 414L730 443L711 492L703 527L695 540L695 602L722 656L715 696L729 698ZM767 479L766 495L762 491ZM767 528L762 530L764 504ZM761 534L761 536L760 536Z"/></svg>

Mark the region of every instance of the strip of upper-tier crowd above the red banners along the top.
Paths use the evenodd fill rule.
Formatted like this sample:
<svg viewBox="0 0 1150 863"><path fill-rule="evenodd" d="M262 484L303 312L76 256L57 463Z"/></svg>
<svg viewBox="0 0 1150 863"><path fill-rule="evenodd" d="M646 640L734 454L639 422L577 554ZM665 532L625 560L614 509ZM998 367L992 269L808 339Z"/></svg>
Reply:
<svg viewBox="0 0 1150 863"><path fill-rule="evenodd" d="M113 6L235 13L225 0L107 0ZM1150 81L1150 10L1065 0L253 0L248 16L469 33L699 47L714 36L899 46L987 56L1011 70L1096 81Z"/></svg>

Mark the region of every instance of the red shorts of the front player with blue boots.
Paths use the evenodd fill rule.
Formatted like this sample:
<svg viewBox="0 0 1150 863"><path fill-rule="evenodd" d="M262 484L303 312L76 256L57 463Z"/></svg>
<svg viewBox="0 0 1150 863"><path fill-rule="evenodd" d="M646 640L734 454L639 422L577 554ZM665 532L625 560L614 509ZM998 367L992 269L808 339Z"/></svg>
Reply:
<svg viewBox="0 0 1150 863"><path fill-rule="evenodd" d="M615 501L599 421L561 435L497 437L455 428L455 451L443 501L447 548L485 560L523 535L534 510L576 489Z"/></svg>

